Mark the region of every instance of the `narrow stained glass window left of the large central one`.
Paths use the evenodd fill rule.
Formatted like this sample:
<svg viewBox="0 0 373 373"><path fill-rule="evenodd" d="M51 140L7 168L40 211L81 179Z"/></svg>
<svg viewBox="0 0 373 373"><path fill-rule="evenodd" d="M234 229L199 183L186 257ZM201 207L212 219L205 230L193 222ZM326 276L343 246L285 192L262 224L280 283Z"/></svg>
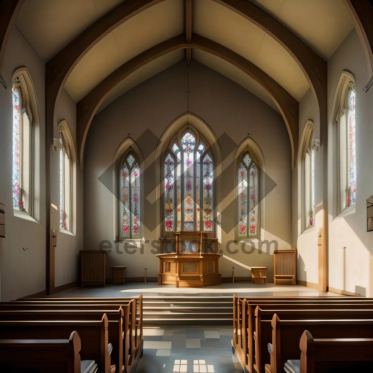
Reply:
<svg viewBox="0 0 373 373"><path fill-rule="evenodd" d="M132 152L127 154L120 169L122 180L122 236L140 236L140 166Z"/></svg>

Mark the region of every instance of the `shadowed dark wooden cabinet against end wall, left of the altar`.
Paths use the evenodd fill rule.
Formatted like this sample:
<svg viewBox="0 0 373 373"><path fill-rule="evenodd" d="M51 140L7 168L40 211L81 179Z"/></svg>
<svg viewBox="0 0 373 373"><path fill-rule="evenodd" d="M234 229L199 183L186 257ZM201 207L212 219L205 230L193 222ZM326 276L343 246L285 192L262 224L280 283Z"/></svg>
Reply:
<svg viewBox="0 0 373 373"><path fill-rule="evenodd" d="M82 286L105 286L106 251L81 250L81 278Z"/></svg>

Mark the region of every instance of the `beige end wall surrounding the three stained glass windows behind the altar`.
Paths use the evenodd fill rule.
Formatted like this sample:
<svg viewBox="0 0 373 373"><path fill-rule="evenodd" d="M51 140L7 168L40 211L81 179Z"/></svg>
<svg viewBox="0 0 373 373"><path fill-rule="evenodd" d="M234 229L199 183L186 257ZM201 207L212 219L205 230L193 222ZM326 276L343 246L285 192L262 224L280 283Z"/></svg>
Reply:
<svg viewBox="0 0 373 373"><path fill-rule="evenodd" d="M290 248L291 151L282 117L238 84L194 60L189 76L189 112L206 122L217 138L226 132L238 145L250 133L260 147L264 156L264 170L277 184L265 198L262 239L275 239L279 249ZM123 254L116 253L113 244L113 195L98 178L110 167L117 147L128 134L136 140L149 128L159 138L173 120L187 112L186 90L187 70L182 60L119 97L92 122L84 154L84 248L98 249L101 241L110 241L113 248L107 256L107 271L113 265L126 265L128 277L143 276L145 267L150 277L156 277L159 272L159 260L150 253L150 244L145 244L144 255L139 250L135 254L126 254L121 242L117 247L119 253ZM147 153L146 145L139 146L143 154ZM229 154L227 159L227 163L231 164L233 154ZM150 167L151 175L145 180L145 189L149 191L157 187L155 179L156 172L160 170L160 161ZM235 165L231 164L223 177L218 179L217 187L222 195L233 192L235 173ZM154 221L159 221L160 203L157 208L156 214L145 211L145 226L153 227ZM226 251L226 243L234 239L234 229L224 232L224 226L225 222L233 220L235 209L236 206L232 204L225 210L224 216L218 217L223 227L217 230L219 250L225 255L222 259L222 275L231 276L234 266L235 276L250 276L251 272L245 266L266 265L267 276L272 279L273 257L266 254L265 244L263 254L257 250L257 241L254 242L254 253L250 255L241 251L241 245L231 244L231 250L239 248L237 254ZM142 235L150 241L159 239L159 228L145 229ZM273 248L274 245L271 246L271 253ZM250 250L250 245L246 245L246 250ZM107 277L110 276L110 272L107 272Z"/></svg>

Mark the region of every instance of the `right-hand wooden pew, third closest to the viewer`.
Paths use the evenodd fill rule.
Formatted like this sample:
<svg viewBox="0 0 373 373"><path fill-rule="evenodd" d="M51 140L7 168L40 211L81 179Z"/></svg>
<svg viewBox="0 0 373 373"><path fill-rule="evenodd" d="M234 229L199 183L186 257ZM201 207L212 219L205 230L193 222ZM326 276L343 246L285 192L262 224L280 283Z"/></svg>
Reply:
<svg viewBox="0 0 373 373"><path fill-rule="evenodd" d="M347 305L349 307L349 305ZM339 305L340 308L340 305ZM262 310L257 306L255 310L256 330L255 330L255 364L254 369L264 372L265 364L270 363L270 356L267 353L267 344L272 342L272 318L276 313L283 320L302 319L373 319L372 309L291 309L291 310Z"/></svg>

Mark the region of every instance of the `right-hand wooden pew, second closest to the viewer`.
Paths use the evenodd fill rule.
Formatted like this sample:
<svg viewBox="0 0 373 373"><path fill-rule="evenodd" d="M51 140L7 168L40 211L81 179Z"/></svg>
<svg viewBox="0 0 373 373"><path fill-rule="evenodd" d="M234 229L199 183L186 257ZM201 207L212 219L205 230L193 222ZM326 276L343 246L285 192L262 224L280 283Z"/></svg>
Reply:
<svg viewBox="0 0 373 373"><path fill-rule="evenodd" d="M272 319L272 354L266 373L283 372L286 360L299 360L299 341L304 330L317 338L370 338L372 320L280 320Z"/></svg>

